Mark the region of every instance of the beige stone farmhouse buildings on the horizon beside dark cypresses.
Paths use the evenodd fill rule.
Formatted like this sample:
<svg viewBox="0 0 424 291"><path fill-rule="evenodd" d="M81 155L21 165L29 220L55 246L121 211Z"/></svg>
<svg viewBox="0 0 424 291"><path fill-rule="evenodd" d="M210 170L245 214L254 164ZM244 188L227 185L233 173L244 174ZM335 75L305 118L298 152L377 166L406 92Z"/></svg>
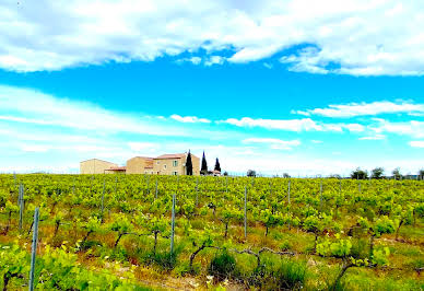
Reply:
<svg viewBox="0 0 424 291"><path fill-rule="evenodd" d="M187 153L163 154L156 158L134 156L127 161L126 166L90 159L80 163L80 174L151 174L151 175L186 175ZM192 174L200 175L200 159L191 153Z"/></svg>

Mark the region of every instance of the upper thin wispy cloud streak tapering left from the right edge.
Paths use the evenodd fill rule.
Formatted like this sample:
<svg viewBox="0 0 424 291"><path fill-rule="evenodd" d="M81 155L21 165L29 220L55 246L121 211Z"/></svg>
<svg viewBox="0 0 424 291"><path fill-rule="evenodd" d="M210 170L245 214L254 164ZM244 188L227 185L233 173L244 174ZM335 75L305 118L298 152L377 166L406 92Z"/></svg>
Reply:
<svg viewBox="0 0 424 291"><path fill-rule="evenodd" d="M326 117L355 117L375 116L379 114L423 114L424 104L413 104L409 102L373 102L373 103L350 103L344 105L329 105L327 108L315 108L307 110L292 112L301 115L320 115Z"/></svg>

